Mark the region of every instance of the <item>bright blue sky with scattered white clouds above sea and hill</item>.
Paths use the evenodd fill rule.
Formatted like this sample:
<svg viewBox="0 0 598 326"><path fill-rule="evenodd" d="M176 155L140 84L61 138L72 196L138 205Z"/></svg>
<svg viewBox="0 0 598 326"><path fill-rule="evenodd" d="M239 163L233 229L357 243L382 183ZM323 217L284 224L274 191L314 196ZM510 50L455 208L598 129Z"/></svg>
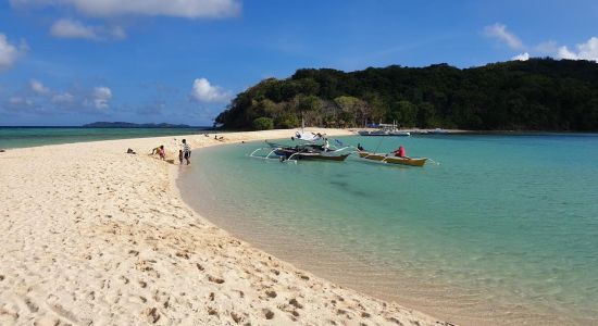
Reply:
<svg viewBox="0 0 598 326"><path fill-rule="evenodd" d="M0 125L211 125L301 67L547 55L598 59L598 1L9 0Z"/></svg>

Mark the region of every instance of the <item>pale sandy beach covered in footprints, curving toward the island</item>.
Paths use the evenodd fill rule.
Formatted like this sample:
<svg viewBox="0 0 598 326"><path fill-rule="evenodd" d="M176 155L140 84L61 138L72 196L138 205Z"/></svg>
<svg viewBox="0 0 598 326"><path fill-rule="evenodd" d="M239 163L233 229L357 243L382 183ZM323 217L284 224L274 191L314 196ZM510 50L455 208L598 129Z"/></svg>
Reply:
<svg viewBox="0 0 598 326"><path fill-rule="evenodd" d="M198 149L290 133L0 153L0 325L448 325L300 271L180 199L183 138ZM159 145L174 165L148 155Z"/></svg>

